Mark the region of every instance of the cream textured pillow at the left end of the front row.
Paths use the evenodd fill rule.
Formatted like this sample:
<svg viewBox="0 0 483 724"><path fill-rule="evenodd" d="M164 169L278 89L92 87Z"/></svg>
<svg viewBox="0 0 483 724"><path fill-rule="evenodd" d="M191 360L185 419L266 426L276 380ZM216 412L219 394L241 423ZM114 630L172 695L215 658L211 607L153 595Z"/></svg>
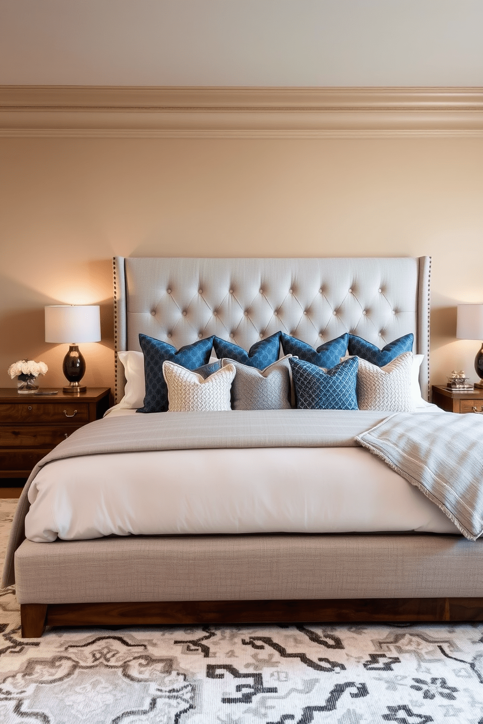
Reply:
<svg viewBox="0 0 483 724"><path fill-rule="evenodd" d="M174 362L163 362L168 388L169 412L215 412L231 410L230 391L235 367L217 370L206 379Z"/></svg>

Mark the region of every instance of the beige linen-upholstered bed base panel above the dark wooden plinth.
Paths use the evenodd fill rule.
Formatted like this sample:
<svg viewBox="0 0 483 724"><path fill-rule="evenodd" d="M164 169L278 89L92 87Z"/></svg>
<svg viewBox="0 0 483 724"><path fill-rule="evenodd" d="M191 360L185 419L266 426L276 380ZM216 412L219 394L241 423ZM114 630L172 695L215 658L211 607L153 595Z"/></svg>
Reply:
<svg viewBox="0 0 483 724"><path fill-rule="evenodd" d="M483 541L441 534L22 542L21 604L483 596Z"/></svg>

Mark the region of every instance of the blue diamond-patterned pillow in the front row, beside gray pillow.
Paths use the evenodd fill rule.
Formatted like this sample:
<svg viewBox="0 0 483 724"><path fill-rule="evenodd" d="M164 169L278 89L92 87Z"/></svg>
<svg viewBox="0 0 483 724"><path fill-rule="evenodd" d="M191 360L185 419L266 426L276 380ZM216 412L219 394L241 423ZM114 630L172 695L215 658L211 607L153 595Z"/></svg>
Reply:
<svg viewBox="0 0 483 724"><path fill-rule="evenodd" d="M344 360L327 371L293 357L289 362L298 410L358 410L357 357Z"/></svg>

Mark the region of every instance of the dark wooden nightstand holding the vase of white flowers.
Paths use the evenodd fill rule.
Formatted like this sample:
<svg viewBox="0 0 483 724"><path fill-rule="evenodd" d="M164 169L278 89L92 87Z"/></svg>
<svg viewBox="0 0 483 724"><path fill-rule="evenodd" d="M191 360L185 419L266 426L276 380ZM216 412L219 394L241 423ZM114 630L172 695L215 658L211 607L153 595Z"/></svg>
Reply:
<svg viewBox="0 0 483 724"><path fill-rule="evenodd" d="M110 393L109 387L88 387L73 395L19 395L0 388L0 478L28 477L59 442L104 415Z"/></svg>

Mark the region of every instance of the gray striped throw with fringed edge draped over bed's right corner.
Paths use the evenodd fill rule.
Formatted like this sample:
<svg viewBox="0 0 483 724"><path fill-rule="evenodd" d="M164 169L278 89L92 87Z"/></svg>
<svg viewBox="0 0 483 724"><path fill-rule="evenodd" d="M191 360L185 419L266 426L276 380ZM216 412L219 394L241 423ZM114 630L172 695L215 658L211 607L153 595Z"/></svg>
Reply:
<svg viewBox="0 0 483 724"><path fill-rule="evenodd" d="M356 437L436 503L463 536L483 533L483 416L396 413Z"/></svg>

